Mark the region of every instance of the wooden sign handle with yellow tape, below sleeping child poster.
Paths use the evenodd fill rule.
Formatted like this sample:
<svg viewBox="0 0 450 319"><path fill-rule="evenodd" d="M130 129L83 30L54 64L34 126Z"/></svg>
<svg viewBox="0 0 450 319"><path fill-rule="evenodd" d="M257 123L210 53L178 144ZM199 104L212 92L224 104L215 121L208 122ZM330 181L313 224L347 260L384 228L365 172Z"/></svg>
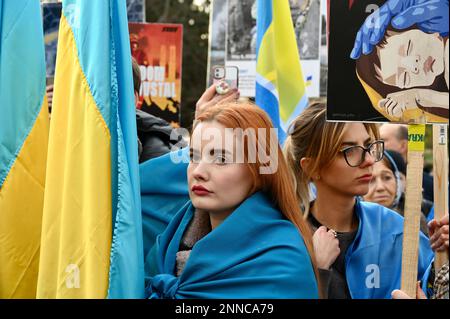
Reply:
<svg viewBox="0 0 450 319"><path fill-rule="evenodd" d="M424 149L425 125L408 125L408 166L406 172L401 289L413 298L416 297L419 264Z"/></svg>

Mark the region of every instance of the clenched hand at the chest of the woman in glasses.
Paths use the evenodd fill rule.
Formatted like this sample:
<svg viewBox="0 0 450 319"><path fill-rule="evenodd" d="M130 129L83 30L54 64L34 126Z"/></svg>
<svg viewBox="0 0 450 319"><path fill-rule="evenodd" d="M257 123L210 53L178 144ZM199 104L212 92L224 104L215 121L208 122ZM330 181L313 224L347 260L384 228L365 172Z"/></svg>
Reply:
<svg viewBox="0 0 450 319"><path fill-rule="evenodd" d="M329 270L339 256L339 240L333 230L327 231L325 226L319 227L313 235L314 254L317 268Z"/></svg>

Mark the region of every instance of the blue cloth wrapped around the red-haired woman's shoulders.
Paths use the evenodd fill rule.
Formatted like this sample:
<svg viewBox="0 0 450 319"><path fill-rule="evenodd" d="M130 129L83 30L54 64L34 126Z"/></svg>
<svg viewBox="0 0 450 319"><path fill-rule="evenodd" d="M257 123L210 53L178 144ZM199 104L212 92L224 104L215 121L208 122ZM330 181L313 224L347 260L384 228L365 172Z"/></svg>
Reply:
<svg viewBox="0 0 450 319"><path fill-rule="evenodd" d="M318 298L303 238L260 192L194 245L176 277L176 253L194 210L187 203L158 236L150 298Z"/></svg>

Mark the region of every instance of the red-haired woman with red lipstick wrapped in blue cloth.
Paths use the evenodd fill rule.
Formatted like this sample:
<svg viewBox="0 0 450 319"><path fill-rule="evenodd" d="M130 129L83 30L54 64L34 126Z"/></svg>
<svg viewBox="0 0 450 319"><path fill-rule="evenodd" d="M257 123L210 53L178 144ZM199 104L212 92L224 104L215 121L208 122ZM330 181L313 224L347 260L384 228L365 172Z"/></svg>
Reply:
<svg viewBox="0 0 450 319"><path fill-rule="evenodd" d="M197 117L189 165L175 153L144 164L187 168L177 189L189 195L147 256L149 297L318 297L311 232L273 132L258 107L222 103Z"/></svg>

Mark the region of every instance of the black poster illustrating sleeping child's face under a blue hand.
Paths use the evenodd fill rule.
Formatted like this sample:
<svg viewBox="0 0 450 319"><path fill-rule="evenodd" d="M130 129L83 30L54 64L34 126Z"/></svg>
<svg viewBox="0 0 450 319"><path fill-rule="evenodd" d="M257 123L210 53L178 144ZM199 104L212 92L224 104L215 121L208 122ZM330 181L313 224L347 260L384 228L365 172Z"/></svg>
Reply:
<svg viewBox="0 0 450 319"><path fill-rule="evenodd" d="M447 123L448 6L330 1L327 119Z"/></svg>

